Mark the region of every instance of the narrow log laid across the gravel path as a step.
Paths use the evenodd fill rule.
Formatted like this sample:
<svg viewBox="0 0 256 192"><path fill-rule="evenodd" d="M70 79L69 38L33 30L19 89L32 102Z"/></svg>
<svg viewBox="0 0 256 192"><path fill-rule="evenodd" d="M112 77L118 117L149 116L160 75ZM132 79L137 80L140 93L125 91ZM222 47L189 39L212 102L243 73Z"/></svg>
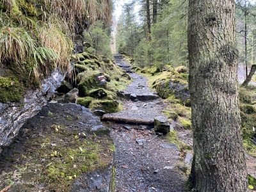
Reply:
<svg viewBox="0 0 256 192"><path fill-rule="evenodd" d="M110 116L104 115L101 118L105 122L117 122L122 124L132 124L132 125L154 125L154 120L145 120L143 118L129 118L123 116Z"/></svg>

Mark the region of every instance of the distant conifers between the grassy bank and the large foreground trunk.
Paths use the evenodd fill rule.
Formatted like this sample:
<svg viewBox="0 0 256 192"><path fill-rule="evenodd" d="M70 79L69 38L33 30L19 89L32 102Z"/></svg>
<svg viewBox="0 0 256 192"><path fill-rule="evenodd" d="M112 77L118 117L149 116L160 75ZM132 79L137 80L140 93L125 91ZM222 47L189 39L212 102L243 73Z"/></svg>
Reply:
<svg viewBox="0 0 256 192"><path fill-rule="evenodd" d="M139 21L134 20L134 4L124 6L118 23L118 51L131 54L140 67L186 65L188 0L137 2L141 4Z"/></svg>

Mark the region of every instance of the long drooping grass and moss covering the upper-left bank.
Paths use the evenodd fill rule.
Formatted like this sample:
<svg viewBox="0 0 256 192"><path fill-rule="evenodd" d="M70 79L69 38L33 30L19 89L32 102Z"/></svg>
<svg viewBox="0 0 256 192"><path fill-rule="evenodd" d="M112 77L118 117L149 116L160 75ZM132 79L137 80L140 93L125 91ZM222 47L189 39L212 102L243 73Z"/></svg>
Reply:
<svg viewBox="0 0 256 192"><path fill-rule="evenodd" d="M38 88L54 68L71 74L77 27L86 29L97 20L105 27L112 19L112 2L107 0L0 0L0 4L0 68L8 68L17 76L13 90L17 90L14 86L18 81L20 87ZM5 91L6 86L1 84L0 89ZM16 99L3 99L3 95L1 102L13 102L22 99L19 95L23 93L14 93Z"/></svg>

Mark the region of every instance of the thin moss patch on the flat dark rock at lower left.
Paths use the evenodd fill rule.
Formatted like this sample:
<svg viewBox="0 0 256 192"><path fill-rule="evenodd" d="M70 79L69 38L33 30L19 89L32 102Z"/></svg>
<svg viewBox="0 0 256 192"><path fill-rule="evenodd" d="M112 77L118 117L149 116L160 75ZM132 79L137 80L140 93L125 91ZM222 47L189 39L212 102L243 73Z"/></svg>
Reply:
<svg viewBox="0 0 256 192"><path fill-rule="evenodd" d="M10 172L1 178L4 179L1 188L12 186L19 179L44 183L45 189L69 191L73 180L82 173L108 166L114 149L113 141L106 134L79 134L63 125L52 125L44 131L44 137L30 138L23 145L26 150L22 155L15 147L13 154L6 157L16 163L8 166ZM33 191L33 187L21 185L22 191Z"/></svg>

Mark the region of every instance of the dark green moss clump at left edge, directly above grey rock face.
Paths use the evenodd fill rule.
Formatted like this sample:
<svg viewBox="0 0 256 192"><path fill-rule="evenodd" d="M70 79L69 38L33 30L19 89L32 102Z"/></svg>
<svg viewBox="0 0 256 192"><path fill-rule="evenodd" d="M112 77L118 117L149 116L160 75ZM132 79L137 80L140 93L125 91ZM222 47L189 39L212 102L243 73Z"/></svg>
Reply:
<svg viewBox="0 0 256 192"><path fill-rule="evenodd" d="M0 76L0 102L19 102L24 93L24 86L15 77Z"/></svg>

